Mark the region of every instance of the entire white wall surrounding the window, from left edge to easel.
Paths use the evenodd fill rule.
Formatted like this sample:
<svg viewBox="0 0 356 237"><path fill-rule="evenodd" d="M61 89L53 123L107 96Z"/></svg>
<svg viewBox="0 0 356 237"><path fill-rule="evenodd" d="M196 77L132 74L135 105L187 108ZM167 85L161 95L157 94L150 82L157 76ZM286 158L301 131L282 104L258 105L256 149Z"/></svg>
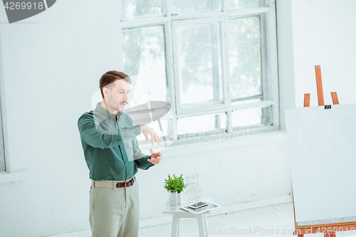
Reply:
<svg viewBox="0 0 356 237"><path fill-rule="evenodd" d="M122 69L117 5L63 0L30 19L0 24L6 157L11 167L28 169L27 179L0 184L1 236L89 228L90 179L77 120L91 110L100 76ZM316 64L322 66L325 95L337 91L340 102L355 101L348 89L355 85L352 6L353 1L277 1L282 129L284 108L302 106L303 93L312 93L311 105L317 104ZM7 22L0 11L0 22ZM161 164L137 174L142 220L162 216L169 173L198 172L201 195L223 206L290 193L285 132L169 148Z"/></svg>

